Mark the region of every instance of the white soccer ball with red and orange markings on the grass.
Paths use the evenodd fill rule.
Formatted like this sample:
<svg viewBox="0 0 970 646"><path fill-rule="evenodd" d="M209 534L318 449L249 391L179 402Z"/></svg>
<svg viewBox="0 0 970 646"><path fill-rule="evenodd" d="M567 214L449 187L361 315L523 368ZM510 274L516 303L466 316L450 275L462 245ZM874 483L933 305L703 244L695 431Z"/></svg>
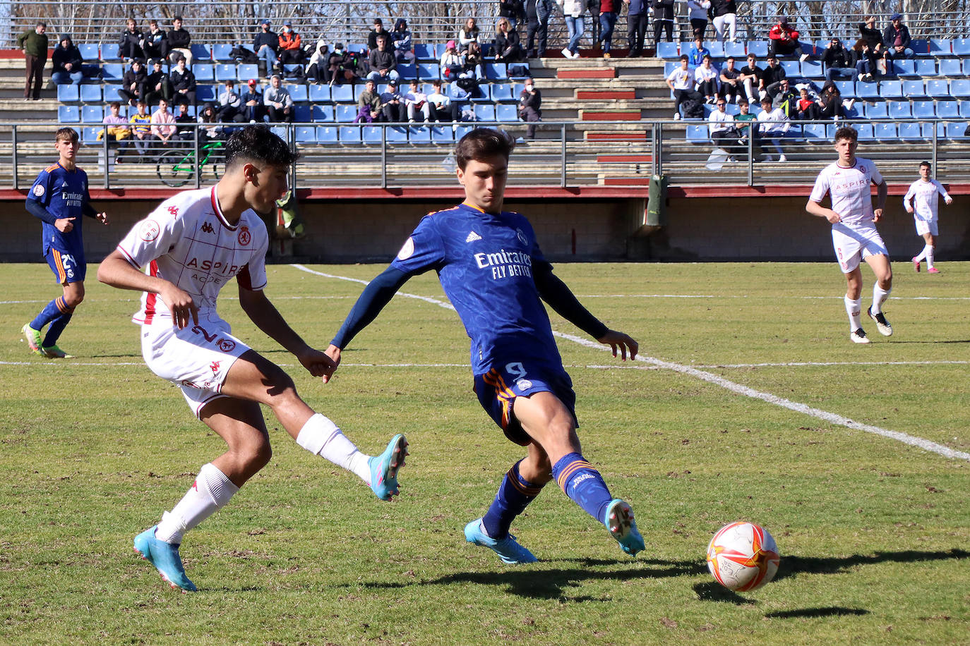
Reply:
<svg viewBox="0 0 970 646"><path fill-rule="evenodd" d="M707 569L728 590L757 590L778 571L778 546L768 531L737 521L725 525L707 545Z"/></svg>

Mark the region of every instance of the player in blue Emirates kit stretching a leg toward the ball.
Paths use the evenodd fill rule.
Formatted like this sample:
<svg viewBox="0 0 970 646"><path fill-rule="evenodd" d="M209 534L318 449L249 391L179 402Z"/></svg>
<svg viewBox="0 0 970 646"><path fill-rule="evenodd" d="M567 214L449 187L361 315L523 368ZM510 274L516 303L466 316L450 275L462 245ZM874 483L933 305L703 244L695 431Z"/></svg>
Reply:
<svg viewBox="0 0 970 646"><path fill-rule="evenodd" d="M435 269L471 338L478 401L505 436L526 446L491 507L465 527L469 542L490 547L508 564L533 563L532 552L508 533L512 521L552 478L579 507L603 523L630 555L643 549L630 505L613 498L583 457L576 435L575 393L556 348L542 300L600 343L636 356L628 335L608 329L552 272L529 221L502 211L507 133L471 131L456 146L465 201L426 216L398 257L361 293L327 349L336 370L340 352L371 323L408 278ZM330 374L325 374L324 382Z"/></svg>

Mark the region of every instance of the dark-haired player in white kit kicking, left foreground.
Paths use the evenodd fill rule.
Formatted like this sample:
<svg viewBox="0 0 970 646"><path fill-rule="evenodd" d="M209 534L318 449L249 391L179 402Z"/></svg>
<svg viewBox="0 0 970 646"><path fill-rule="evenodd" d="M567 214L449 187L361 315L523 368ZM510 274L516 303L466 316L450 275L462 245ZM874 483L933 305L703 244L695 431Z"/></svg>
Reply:
<svg viewBox="0 0 970 646"><path fill-rule="evenodd" d="M181 388L198 417L229 446L199 470L195 483L135 549L173 588L195 590L185 575L182 535L224 507L270 461L270 436L259 405L273 410L297 444L357 474L382 500L398 493L407 442L391 439L379 456L361 453L327 417L314 414L278 366L247 348L219 318L215 299L236 278L242 310L295 354L313 376L335 366L307 346L266 297L266 227L253 211L270 211L286 193L295 161L265 126L248 126L226 143L225 174L211 189L165 200L137 224L98 270L103 283L140 290L142 354L148 367ZM149 266L149 273L138 267Z"/></svg>

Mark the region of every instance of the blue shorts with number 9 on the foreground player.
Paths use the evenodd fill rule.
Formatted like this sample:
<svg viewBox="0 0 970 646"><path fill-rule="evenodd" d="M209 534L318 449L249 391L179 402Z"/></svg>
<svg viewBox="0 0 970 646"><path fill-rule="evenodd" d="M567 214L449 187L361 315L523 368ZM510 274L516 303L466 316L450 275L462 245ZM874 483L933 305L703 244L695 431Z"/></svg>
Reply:
<svg viewBox="0 0 970 646"><path fill-rule="evenodd" d="M501 365L501 364L500 364ZM487 373L475 375L475 394L478 402L495 423L499 424L505 437L520 446L529 446L532 438L522 428L512 411L515 398L536 392L551 392L576 419L576 393L566 371L546 365L530 365L513 361L501 367L493 367ZM577 423L578 426L578 423Z"/></svg>

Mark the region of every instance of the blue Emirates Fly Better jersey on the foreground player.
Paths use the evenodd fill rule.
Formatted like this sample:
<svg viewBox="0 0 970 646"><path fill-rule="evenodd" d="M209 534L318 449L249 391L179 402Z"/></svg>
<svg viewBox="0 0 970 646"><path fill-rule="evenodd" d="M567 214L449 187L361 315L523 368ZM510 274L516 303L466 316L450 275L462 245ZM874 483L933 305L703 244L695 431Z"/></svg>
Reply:
<svg viewBox="0 0 970 646"><path fill-rule="evenodd" d="M436 270L471 338L474 374L509 358L562 370L533 281L533 269L549 270L549 262L522 215L467 203L437 211L421 220L391 266L409 275Z"/></svg>

